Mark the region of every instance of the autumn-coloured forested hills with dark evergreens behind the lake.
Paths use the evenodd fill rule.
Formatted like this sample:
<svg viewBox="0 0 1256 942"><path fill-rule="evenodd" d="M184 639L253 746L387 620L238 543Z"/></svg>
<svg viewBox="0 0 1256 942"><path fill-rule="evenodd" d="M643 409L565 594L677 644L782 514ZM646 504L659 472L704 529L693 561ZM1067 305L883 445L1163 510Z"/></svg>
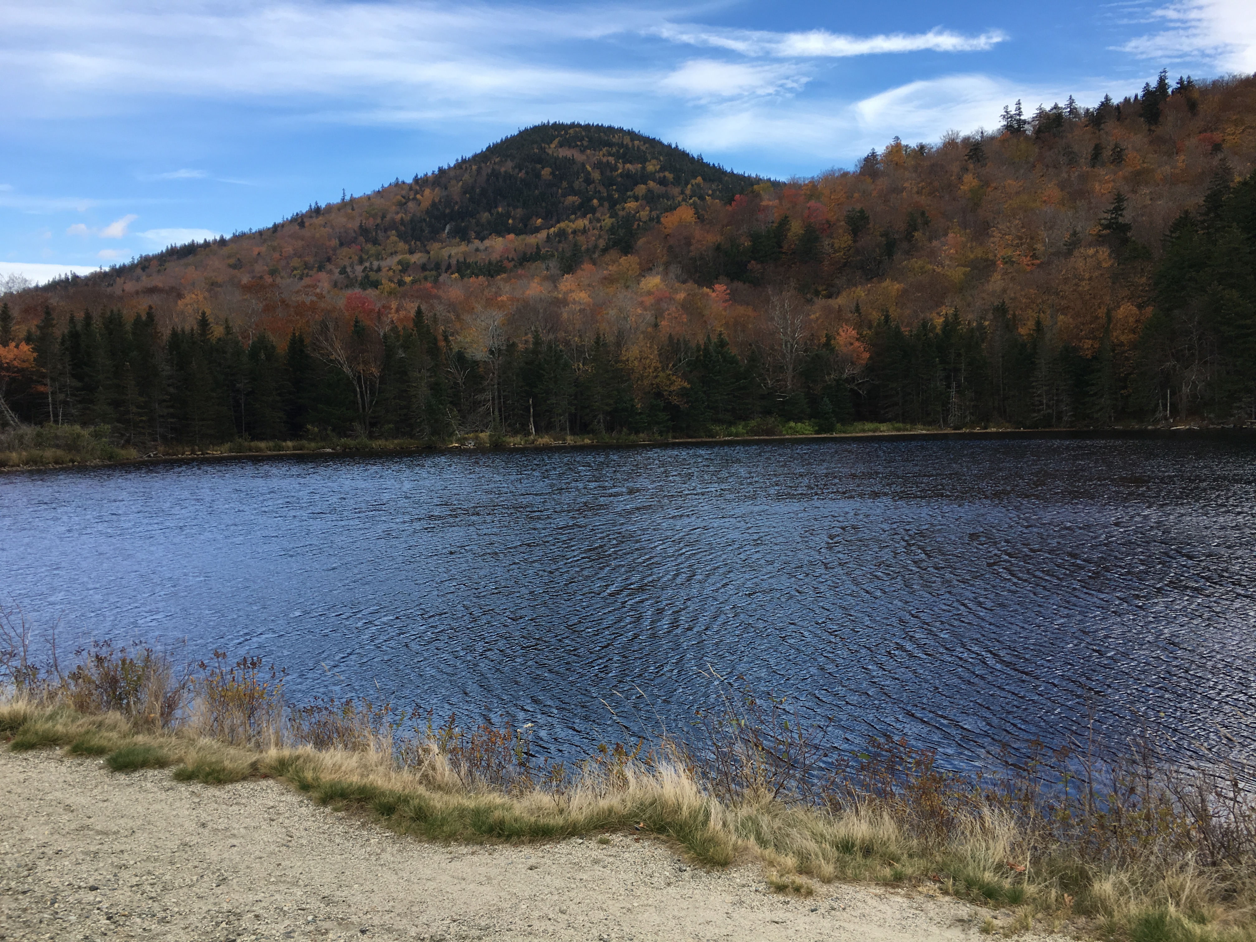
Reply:
<svg viewBox="0 0 1256 942"><path fill-rule="evenodd" d="M1253 166L1253 78L785 183L540 126L5 298L3 397L133 443L1252 422Z"/></svg>

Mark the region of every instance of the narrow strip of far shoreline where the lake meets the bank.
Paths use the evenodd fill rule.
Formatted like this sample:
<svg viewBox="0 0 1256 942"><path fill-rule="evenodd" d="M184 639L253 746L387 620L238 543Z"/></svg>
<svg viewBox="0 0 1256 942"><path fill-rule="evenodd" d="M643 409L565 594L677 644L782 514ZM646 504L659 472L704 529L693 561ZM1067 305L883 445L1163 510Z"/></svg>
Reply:
<svg viewBox="0 0 1256 942"><path fill-rule="evenodd" d="M475 438L475 441L471 441ZM0 465L0 474L20 471L60 471L72 468L134 467L175 462L269 460L296 457L387 457L402 455L489 453L510 451L549 451L556 448L615 450L615 448L666 448L679 446L731 446L731 445L804 445L809 442L865 442L865 441L1120 441L1120 440L1232 440L1256 442L1256 427L1250 426L1173 426L1125 428L917 428L897 431L833 432L824 435L756 435L692 438L644 438L638 441L522 441L489 443L485 433L463 436L448 445L414 443L382 447L324 447L291 450L201 451L181 455L144 455L117 460L87 460L45 462L30 465ZM386 441L386 440L384 440ZM266 442L261 442L265 445ZM319 442L311 442L317 445ZM225 446L224 446L225 447Z"/></svg>

